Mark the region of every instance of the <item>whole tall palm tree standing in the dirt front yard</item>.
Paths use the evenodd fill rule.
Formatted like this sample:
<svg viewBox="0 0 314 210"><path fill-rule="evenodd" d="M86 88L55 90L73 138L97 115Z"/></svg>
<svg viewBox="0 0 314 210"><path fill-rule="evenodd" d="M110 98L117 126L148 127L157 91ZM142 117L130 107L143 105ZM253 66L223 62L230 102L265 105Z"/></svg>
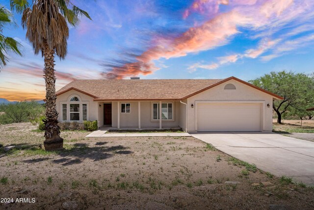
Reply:
<svg viewBox="0 0 314 210"><path fill-rule="evenodd" d="M63 148L56 111L54 54L64 59L67 54L69 28L77 26L79 17L91 19L70 0L10 0L11 9L22 14L22 26L35 54L42 53L46 83L45 150Z"/></svg>

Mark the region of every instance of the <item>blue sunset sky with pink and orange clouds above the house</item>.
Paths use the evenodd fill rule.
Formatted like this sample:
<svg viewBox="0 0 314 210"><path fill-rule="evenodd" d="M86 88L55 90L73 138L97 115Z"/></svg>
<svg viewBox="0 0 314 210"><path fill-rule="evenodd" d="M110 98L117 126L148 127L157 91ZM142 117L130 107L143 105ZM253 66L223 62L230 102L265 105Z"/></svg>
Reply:
<svg viewBox="0 0 314 210"><path fill-rule="evenodd" d="M74 0L93 21L70 28L56 58L56 90L75 79L250 80L270 71L314 71L314 0ZM8 0L0 3L9 8ZM0 98L45 98L44 61L22 43L0 72Z"/></svg>

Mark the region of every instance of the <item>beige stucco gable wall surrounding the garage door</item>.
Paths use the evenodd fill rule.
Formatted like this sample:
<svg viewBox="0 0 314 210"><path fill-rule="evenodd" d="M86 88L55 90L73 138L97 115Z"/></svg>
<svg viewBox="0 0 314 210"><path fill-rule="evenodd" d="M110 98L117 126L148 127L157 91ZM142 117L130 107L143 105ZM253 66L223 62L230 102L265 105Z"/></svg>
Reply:
<svg viewBox="0 0 314 210"><path fill-rule="evenodd" d="M236 90L224 90L225 85L229 83L234 84ZM263 119L263 122L261 124L264 124L262 131L271 131L272 100L273 97L271 95L264 93L260 90L256 90L235 80L227 81L226 83L223 83L221 85L187 98L187 131L196 131L196 101L264 101L263 105L261 104L261 110L264 110L264 116L261 116L261 119ZM191 104L194 105L194 108L191 108ZM267 104L269 104L270 107L267 107Z"/></svg>

